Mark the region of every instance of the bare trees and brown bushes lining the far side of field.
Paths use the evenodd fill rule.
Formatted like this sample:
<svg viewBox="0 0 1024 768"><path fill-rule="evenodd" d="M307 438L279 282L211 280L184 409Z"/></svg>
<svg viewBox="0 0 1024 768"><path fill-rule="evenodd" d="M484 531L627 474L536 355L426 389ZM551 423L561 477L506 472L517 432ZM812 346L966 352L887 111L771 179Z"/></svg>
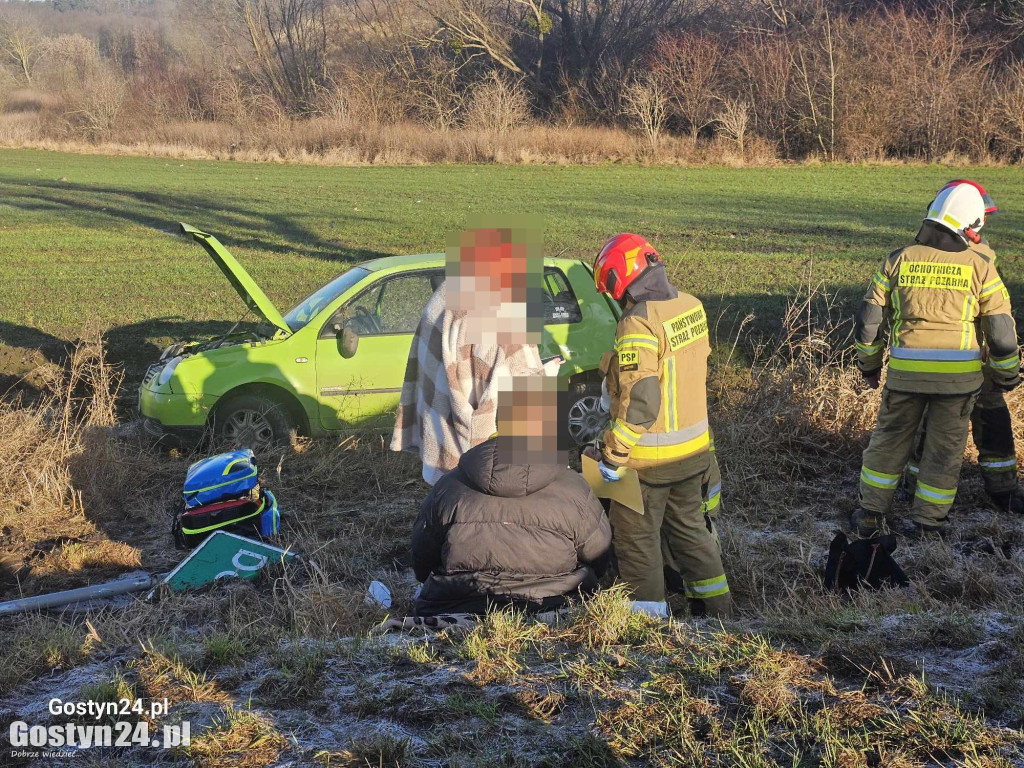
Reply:
<svg viewBox="0 0 1024 768"><path fill-rule="evenodd" d="M330 124L652 158L1024 155L1024 0L0 2L0 62L4 117L86 141L221 126L316 153Z"/></svg>

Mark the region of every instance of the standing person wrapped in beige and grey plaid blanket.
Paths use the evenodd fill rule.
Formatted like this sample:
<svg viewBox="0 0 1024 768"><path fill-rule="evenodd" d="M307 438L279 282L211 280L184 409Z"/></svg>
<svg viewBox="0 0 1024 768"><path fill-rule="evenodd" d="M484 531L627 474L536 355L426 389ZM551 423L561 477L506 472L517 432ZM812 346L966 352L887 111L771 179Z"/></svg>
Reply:
<svg viewBox="0 0 1024 768"><path fill-rule="evenodd" d="M391 450L418 453L431 485L495 434L501 382L544 375L543 256L526 236L477 228L450 243L446 281L416 329Z"/></svg>

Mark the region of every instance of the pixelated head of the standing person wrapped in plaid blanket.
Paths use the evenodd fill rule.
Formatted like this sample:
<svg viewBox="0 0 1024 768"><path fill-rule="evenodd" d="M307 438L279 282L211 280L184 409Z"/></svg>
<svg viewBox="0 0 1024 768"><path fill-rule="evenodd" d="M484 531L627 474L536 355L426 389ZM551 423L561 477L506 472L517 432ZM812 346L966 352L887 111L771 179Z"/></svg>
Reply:
<svg viewBox="0 0 1024 768"><path fill-rule="evenodd" d="M541 232L476 227L449 237L447 306L465 312L470 344L539 344L544 325Z"/></svg>

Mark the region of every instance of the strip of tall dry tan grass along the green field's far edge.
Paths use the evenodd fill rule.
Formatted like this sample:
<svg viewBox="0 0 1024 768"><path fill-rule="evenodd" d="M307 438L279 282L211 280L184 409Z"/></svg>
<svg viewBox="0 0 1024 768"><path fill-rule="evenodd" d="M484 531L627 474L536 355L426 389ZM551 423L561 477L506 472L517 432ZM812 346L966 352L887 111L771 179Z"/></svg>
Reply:
<svg viewBox="0 0 1024 768"><path fill-rule="evenodd" d="M167 121L140 130L113 131L102 139L53 136L37 113L0 113L0 146L58 152L197 160L306 163L329 166L499 163L592 165L650 163L763 166L776 161L766 143L694 146L663 136L652 156L644 140L620 128L525 123L508 129L437 130L418 123L373 124L315 117L239 127L229 123Z"/></svg>

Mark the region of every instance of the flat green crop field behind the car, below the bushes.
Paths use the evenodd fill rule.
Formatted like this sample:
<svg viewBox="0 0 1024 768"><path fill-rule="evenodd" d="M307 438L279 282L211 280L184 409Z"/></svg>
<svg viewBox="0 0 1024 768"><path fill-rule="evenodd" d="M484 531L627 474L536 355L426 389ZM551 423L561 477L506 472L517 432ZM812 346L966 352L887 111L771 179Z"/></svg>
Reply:
<svg viewBox="0 0 1024 768"><path fill-rule="evenodd" d="M805 264L845 297L912 238L964 169L428 166L326 168L0 151L0 341L106 333L129 375L163 341L215 333L242 304L187 221L233 249L282 310L347 265L436 252L474 213L529 213L551 254L592 258L623 230L650 239L681 286L771 329ZM1024 276L1024 175L974 174L1005 211L990 224L1004 278ZM729 327L726 324L724 329Z"/></svg>

